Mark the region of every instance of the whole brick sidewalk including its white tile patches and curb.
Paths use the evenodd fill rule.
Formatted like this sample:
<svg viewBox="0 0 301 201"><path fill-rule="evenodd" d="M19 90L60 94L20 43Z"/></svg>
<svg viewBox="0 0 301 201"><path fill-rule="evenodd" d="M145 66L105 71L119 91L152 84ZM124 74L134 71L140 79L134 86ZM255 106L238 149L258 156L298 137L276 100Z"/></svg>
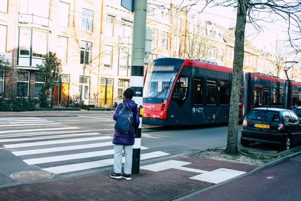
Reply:
<svg viewBox="0 0 301 201"><path fill-rule="evenodd" d="M257 167L180 157L141 166L139 174L132 174L131 180L111 178L109 175L113 167L108 167L90 176L0 188L0 200L173 200L198 190L219 186L288 158L282 157Z"/></svg>

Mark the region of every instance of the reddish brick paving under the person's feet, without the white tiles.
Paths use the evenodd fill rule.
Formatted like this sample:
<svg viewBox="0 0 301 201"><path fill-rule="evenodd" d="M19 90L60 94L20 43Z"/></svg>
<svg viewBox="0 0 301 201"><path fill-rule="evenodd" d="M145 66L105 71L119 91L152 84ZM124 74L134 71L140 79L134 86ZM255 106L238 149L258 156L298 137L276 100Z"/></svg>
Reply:
<svg viewBox="0 0 301 201"><path fill-rule="evenodd" d="M212 171L229 168L250 171L256 166L182 157L177 160L190 162L184 167ZM189 179L198 175L179 169L152 172L140 169L131 180L113 179L109 173L60 181L29 183L0 188L0 200L172 200L213 183Z"/></svg>

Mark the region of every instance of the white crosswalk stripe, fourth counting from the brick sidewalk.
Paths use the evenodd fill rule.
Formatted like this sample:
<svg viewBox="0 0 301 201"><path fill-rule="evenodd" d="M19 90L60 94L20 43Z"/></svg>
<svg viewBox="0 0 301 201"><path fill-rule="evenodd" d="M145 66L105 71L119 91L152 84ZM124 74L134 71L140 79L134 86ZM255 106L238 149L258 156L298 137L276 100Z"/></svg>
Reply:
<svg viewBox="0 0 301 201"><path fill-rule="evenodd" d="M51 144L63 144L63 143L73 143L73 142L87 142L94 140L106 140L112 139L111 136L101 136L101 137L92 137L92 138L76 138L76 139L68 139L68 140L51 140L51 141L43 141L43 142L29 142L29 143L19 143L19 144L8 144L3 145L7 149L11 148L20 148L20 147L33 147L33 146L41 146L41 145L51 145ZM41 140L41 138L38 138Z"/></svg>

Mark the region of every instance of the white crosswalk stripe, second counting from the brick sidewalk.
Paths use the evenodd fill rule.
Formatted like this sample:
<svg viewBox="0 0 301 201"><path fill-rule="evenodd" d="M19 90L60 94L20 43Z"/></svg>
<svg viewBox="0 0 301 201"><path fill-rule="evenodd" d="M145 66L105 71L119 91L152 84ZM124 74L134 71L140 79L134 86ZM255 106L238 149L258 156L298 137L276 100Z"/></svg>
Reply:
<svg viewBox="0 0 301 201"><path fill-rule="evenodd" d="M141 150L143 150L143 149L147 149L147 148L141 147ZM50 162L58 162L58 161L65 161L65 160L106 156L106 155L111 155L111 154L114 154L114 149L104 150L104 151L92 151L92 152L85 152L85 153L79 153L79 154L67 154L67 155L61 155L61 156L33 158L33 159L26 159L23 161L29 165L35 165L35 164L41 164L41 163L50 163Z"/></svg>

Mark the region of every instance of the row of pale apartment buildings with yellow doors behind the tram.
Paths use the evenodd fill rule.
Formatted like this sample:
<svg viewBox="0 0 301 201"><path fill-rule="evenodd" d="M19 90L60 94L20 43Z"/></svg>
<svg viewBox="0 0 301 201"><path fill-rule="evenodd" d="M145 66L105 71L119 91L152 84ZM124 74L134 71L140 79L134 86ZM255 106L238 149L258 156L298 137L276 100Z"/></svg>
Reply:
<svg viewBox="0 0 301 201"><path fill-rule="evenodd" d="M152 53L200 58L233 66L234 32L173 5L148 1ZM43 80L36 65L48 51L62 60L55 101L80 95L85 104L111 106L129 87L132 13L114 0L2 0L0 54L11 59L14 77L0 69L0 94L13 80L16 94L37 97ZM266 72L274 61L246 43L244 70Z"/></svg>

